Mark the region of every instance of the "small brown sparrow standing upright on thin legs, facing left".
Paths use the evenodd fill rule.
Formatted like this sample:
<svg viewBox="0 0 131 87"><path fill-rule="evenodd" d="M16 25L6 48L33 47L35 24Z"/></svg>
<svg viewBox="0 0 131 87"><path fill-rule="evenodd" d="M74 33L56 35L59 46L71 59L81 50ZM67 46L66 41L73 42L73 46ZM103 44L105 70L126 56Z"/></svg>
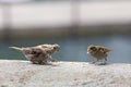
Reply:
<svg viewBox="0 0 131 87"><path fill-rule="evenodd" d="M91 45L87 47L87 53L90 53L91 55L93 55L95 58L95 60L92 62L93 64L102 59L105 59L105 62L102 64L106 64L107 57L110 51L111 51L111 49L109 49L107 47L103 47L103 46Z"/></svg>

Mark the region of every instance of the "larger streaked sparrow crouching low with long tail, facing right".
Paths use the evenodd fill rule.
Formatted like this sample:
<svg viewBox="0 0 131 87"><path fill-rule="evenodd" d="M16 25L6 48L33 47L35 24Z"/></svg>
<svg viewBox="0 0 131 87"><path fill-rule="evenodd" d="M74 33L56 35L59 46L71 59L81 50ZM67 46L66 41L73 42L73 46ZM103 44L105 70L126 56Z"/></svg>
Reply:
<svg viewBox="0 0 131 87"><path fill-rule="evenodd" d="M35 47L10 47L10 49L21 51L27 60L33 64L47 64L49 61L55 62L56 60L51 58L51 54L60 50L60 46L55 45L39 45Z"/></svg>

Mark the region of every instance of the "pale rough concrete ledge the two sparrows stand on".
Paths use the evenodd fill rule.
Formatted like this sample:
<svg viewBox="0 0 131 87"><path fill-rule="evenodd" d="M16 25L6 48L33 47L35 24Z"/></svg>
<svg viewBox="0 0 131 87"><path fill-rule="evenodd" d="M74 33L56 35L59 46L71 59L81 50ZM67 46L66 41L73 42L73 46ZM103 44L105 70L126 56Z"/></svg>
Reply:
<svg viewBox="0 0 131 87"><path fill-rule="evenodd" d="M0 87L131 87L131 64L0 60Z"/></svg>

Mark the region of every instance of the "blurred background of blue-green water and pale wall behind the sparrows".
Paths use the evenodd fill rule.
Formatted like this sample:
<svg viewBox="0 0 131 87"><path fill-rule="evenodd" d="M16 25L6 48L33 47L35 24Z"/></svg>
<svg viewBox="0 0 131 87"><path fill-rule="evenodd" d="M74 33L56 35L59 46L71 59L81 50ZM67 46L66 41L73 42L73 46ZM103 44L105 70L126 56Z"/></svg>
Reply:
<svg viewBox="0 0 131 87"><path fill-rule="evenodd" d="M60 61L88 62L87 46L112 49L110 63L131 63L131 0L0 0L0 59L26 60L9 47L59 44Z"/></svg>

